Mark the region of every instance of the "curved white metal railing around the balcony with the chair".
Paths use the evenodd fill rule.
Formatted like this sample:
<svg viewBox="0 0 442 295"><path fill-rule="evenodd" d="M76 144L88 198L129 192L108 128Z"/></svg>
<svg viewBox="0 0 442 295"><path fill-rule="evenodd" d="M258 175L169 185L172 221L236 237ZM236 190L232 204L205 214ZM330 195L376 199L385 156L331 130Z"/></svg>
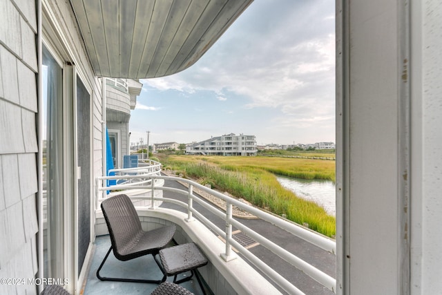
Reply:
<svg viewBox="0 0 442 295"><path fill-rule="evenodd" d="M158 163L159 164L159 163ZM146 167L143 167L146 168ZM122 170L122 169L116 169L116 170ZM125 172L127 169L124 169ZM99 184L105 184L106 180L122 180L126 179L128 185L122 184L122 185L116 185L111 187L106 187L105 185L99 185ZM136 182L133 182L133 180L137 180ZM172 187L163 187L162 185L159 186L158 183L160 183L158 180L175 180L180 181L188 184L188 190L184 191L182 189L175 189ZM193 188L196 187L206 193L211 194L212 196L215 196L216 198L220 198L221 200L224 200L227 203L227 209L226 211L222 211L218 207L215 207L210 202L204 202L201 200L198 196L195 196L193 193ZM242 209L244 211L247 211L251 213L253 216L256 216L262 220L265 220L267 222L270 222L273 225L276 225L277 227L280 227L281 229L284 229L285 231L288 231L289 233L293 234L294 236L297 236L299 238L302 238L303 240L310 242L313 245L316 245L317 247L320 247L321 249L324 249L326 251L329 251L332 254L336 254L336 242L334 240L331 240L329 238L325 238L324 236L320 236L318 234L315 234L312 231L309 231L307 229L304 229L303 227L300 227L298 225L295 225L291 222L287 222L286 220L283 220L282 218L279 218L277 216L273 216L265 211L261 211L260 209L257 209L255 207L250 206L249 204L245 204L244 202L240 202L239 200L236 200L235 198L231 198L229 196L224 195L223 193L219 193L218 191L214 191L213 189L209 189L208 187L204 187L201 184L198 184L197 182L193 182L192 180L186 180L184 178L177 178L177 177L171 177L171 176L162 176L158 171L149 171L145 174L137 174L137 175L117 175L117 176L108 176L108 177L100 177L97 178L97 189L96 189L96 202L97 202L97 208L99 208L99 203L101 203L107 196L102 192L108 191L110 189L146 189L151 190L151 197L142 197L142 196L133 196L133 199L137 200L151 200L151 207L150 209L155 209L155 200L160 200L162 202L171 202L173 204L178 204L181 207L184 207L187 209L188 218L186 218L186 221L193 220L193 216L195 215L206 227L209 227L209 229L212 229L215 231L216 234L220 235L222 238L224 238L226 247L225 247L225 253L220 254L224 260L229 261L235 258L235 254L232 253L231 248L235 247L245 258L247 258L253 265L256 265L259 269L262 270L273 282L275 282L277 285L282 287L286 292L289 294L303 294L296 286L294 286L291 282L286 280L284 277L282 277L278 272L276 272L274 269L266 265L262 260L260 260L258 257L253 255L248 249L244 248L242 245L240 245L236 240L232 238L232 226L240 229L244 234L249 236L250 238L253 238L257 242L260 243L260 245L266 247L269 249L273 254L278 255L283 260L287 261L287 263L290 263L294 267L300 269L300 271L304 272L311 278L314 278L314 280L318 281L318 283L324 285L328 289L332 290L332 292L336 293L336 279L332 276L329 276L328 274L325 274L324 272L320 271L320 269L317 269L316 267L310 265L309 263L305 262L304 260L298 258L298 256L291 254L289 251L283 249L282 247L276 245L276 243L271 242L271 240L268 240L267 238L261 236L256 231L253 231L249 227L246 227L241 222L238 222L237 220L234 220L232 218L232 206L238 207L239 209ZM170 198L158 198L155 197L155 190L162 190L162 191L173 191L175 193L180 193L184 196L187 196L187 203L181 202L179 200L173 200ZM118 193L124 193L122 191L119 191ZM202 205L204 209L209 210L211 213L215 214L215 216L218 216L222 218L226 222L225 230L220 229L216 225L213 224L209 219L204 217L202 213L195 210L193 207L193 201L198 202L198 204Z"/></svg>

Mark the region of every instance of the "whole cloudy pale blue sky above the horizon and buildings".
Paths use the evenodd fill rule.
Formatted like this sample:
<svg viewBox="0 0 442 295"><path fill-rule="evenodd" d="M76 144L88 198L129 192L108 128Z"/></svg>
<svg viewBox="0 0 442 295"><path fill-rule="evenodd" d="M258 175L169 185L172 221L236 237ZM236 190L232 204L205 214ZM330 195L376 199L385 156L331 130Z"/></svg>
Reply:
<svg viewBox="0 0 442 295"><path fill-rule="evenodd" d="M335 142L334 1L255 0L191 68L143 79L131 142Z"/></svg>

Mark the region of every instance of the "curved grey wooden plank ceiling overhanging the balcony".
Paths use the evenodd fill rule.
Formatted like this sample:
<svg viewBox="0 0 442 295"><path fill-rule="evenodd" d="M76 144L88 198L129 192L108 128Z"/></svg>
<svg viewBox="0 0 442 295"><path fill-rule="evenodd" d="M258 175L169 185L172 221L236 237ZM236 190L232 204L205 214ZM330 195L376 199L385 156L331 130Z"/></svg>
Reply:
<svg viewBox="0 0 442 295"><path fill-rule="evenodd" d="M95 75L153 78L188 68L253 0L70 0Z"/></svg>

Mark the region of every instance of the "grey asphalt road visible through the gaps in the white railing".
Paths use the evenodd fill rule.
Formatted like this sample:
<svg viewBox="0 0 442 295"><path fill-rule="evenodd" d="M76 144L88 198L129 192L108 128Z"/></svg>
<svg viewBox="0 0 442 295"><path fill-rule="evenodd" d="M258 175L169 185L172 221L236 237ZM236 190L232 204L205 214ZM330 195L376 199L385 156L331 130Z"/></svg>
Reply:
<svg viewBox="0 0 442 295"><path fill-rule="evenodd" d="M173 180L166 180L164 186L187 190L184 185ZM180 193L164 191L164 197L186 202L186 196L183 196ZM177 209L185 212L182 207L175 204L163 203L161 207ZM202 215L204 215L206 218L209 218L209 220L211 220L211 222L213 222L215 225L224 230L224 220L213 215L213 213L204 209L204 207L197 202L193 202L193 207L195 207L195 209L202 213ZM305 260L307 263L314 265L326 274L329 274L329 276L336 277L336 256L333 254L311 245L300 238L296 238L287 231L271 225L269 222L264 220L240 219L240 221L250 229L253 229L265 238L275 242L277 245L280 245L280 247L290 251L302 260ZM235 230L236 229L233 229L233 231ZM300 272L298 269L296 269L296 267L285 263L284 260L271 253L271 251L267 250L265 247L257 245L255 247L251 247L249 251L267 263L267 265L275 269L276 272L282 274L282 276L284 276L287 280L294 282L294 285L296 285L296 287L298 287L298 289L300 289L302 292L305 292L305 294L333 294L333 292L329 291L329 289L323 287L319 283L316 283L315 280Z"/></svg>

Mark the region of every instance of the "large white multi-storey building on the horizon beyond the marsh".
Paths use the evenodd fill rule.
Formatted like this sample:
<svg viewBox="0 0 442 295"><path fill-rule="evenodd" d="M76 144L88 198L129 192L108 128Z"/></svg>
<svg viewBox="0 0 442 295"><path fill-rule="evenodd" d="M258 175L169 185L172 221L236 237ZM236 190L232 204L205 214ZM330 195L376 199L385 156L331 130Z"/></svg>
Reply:
<svg viewBox="0 0 442 295"><path fill-rule="evenodd" d="M188 155L256 155L257 151L255 135L234 133L186 146Z"/></svg>

